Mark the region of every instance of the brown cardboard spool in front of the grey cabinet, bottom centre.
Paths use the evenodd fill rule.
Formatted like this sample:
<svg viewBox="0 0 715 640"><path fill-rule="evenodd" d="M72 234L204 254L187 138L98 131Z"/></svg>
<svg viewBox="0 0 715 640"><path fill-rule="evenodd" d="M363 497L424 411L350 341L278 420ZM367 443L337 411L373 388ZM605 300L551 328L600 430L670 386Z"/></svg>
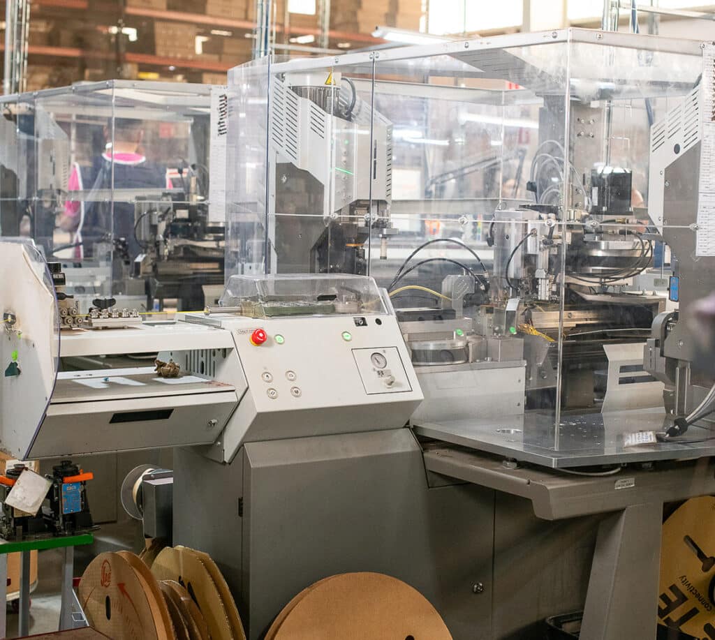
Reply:
<svg viewBox="0 0 715 640"><path fill-rule="evenodd" d="M315 586L280 625L275 640L452 640L419 591L383 574L341 574Z"/></svg>

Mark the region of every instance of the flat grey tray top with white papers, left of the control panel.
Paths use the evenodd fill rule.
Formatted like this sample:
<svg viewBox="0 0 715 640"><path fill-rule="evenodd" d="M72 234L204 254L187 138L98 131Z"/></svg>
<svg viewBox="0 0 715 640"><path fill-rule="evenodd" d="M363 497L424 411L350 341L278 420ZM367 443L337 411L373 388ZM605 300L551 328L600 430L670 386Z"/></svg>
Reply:
<svg viewBox="0 0 715 640"><path fill-rule="evenodd" d="M154 367L70 371L57 377L52 404L127 398L155 398L234 391L234 387L193 374L162 378Z"/></svg>

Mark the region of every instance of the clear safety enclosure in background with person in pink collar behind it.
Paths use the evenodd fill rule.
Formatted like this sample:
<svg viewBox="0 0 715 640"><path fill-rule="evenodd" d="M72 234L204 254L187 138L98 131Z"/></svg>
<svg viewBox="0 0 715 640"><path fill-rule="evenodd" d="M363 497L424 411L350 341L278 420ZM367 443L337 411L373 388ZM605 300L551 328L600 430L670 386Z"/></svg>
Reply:
<svg viewBox="0 0 715 640"><path fill-rule="evenodd" d="M2 97L1 233L34 239L61 261L82 313L95 299L202 309L202 286L213 286L215 302L225 237L221 92L109 81ZM209 178L212 148L220 161Z"/></svg>

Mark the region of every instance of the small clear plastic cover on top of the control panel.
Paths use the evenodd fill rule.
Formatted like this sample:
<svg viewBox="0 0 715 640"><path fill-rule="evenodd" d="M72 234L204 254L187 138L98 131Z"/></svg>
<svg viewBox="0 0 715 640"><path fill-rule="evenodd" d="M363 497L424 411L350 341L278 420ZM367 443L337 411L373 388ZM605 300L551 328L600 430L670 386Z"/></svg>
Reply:
<svg viewBox="0 0 715 640"><path fill-rule="evenodd" d="M347 274L231 276L220 306L251 318L386 313L375 281Z"/></svg>

